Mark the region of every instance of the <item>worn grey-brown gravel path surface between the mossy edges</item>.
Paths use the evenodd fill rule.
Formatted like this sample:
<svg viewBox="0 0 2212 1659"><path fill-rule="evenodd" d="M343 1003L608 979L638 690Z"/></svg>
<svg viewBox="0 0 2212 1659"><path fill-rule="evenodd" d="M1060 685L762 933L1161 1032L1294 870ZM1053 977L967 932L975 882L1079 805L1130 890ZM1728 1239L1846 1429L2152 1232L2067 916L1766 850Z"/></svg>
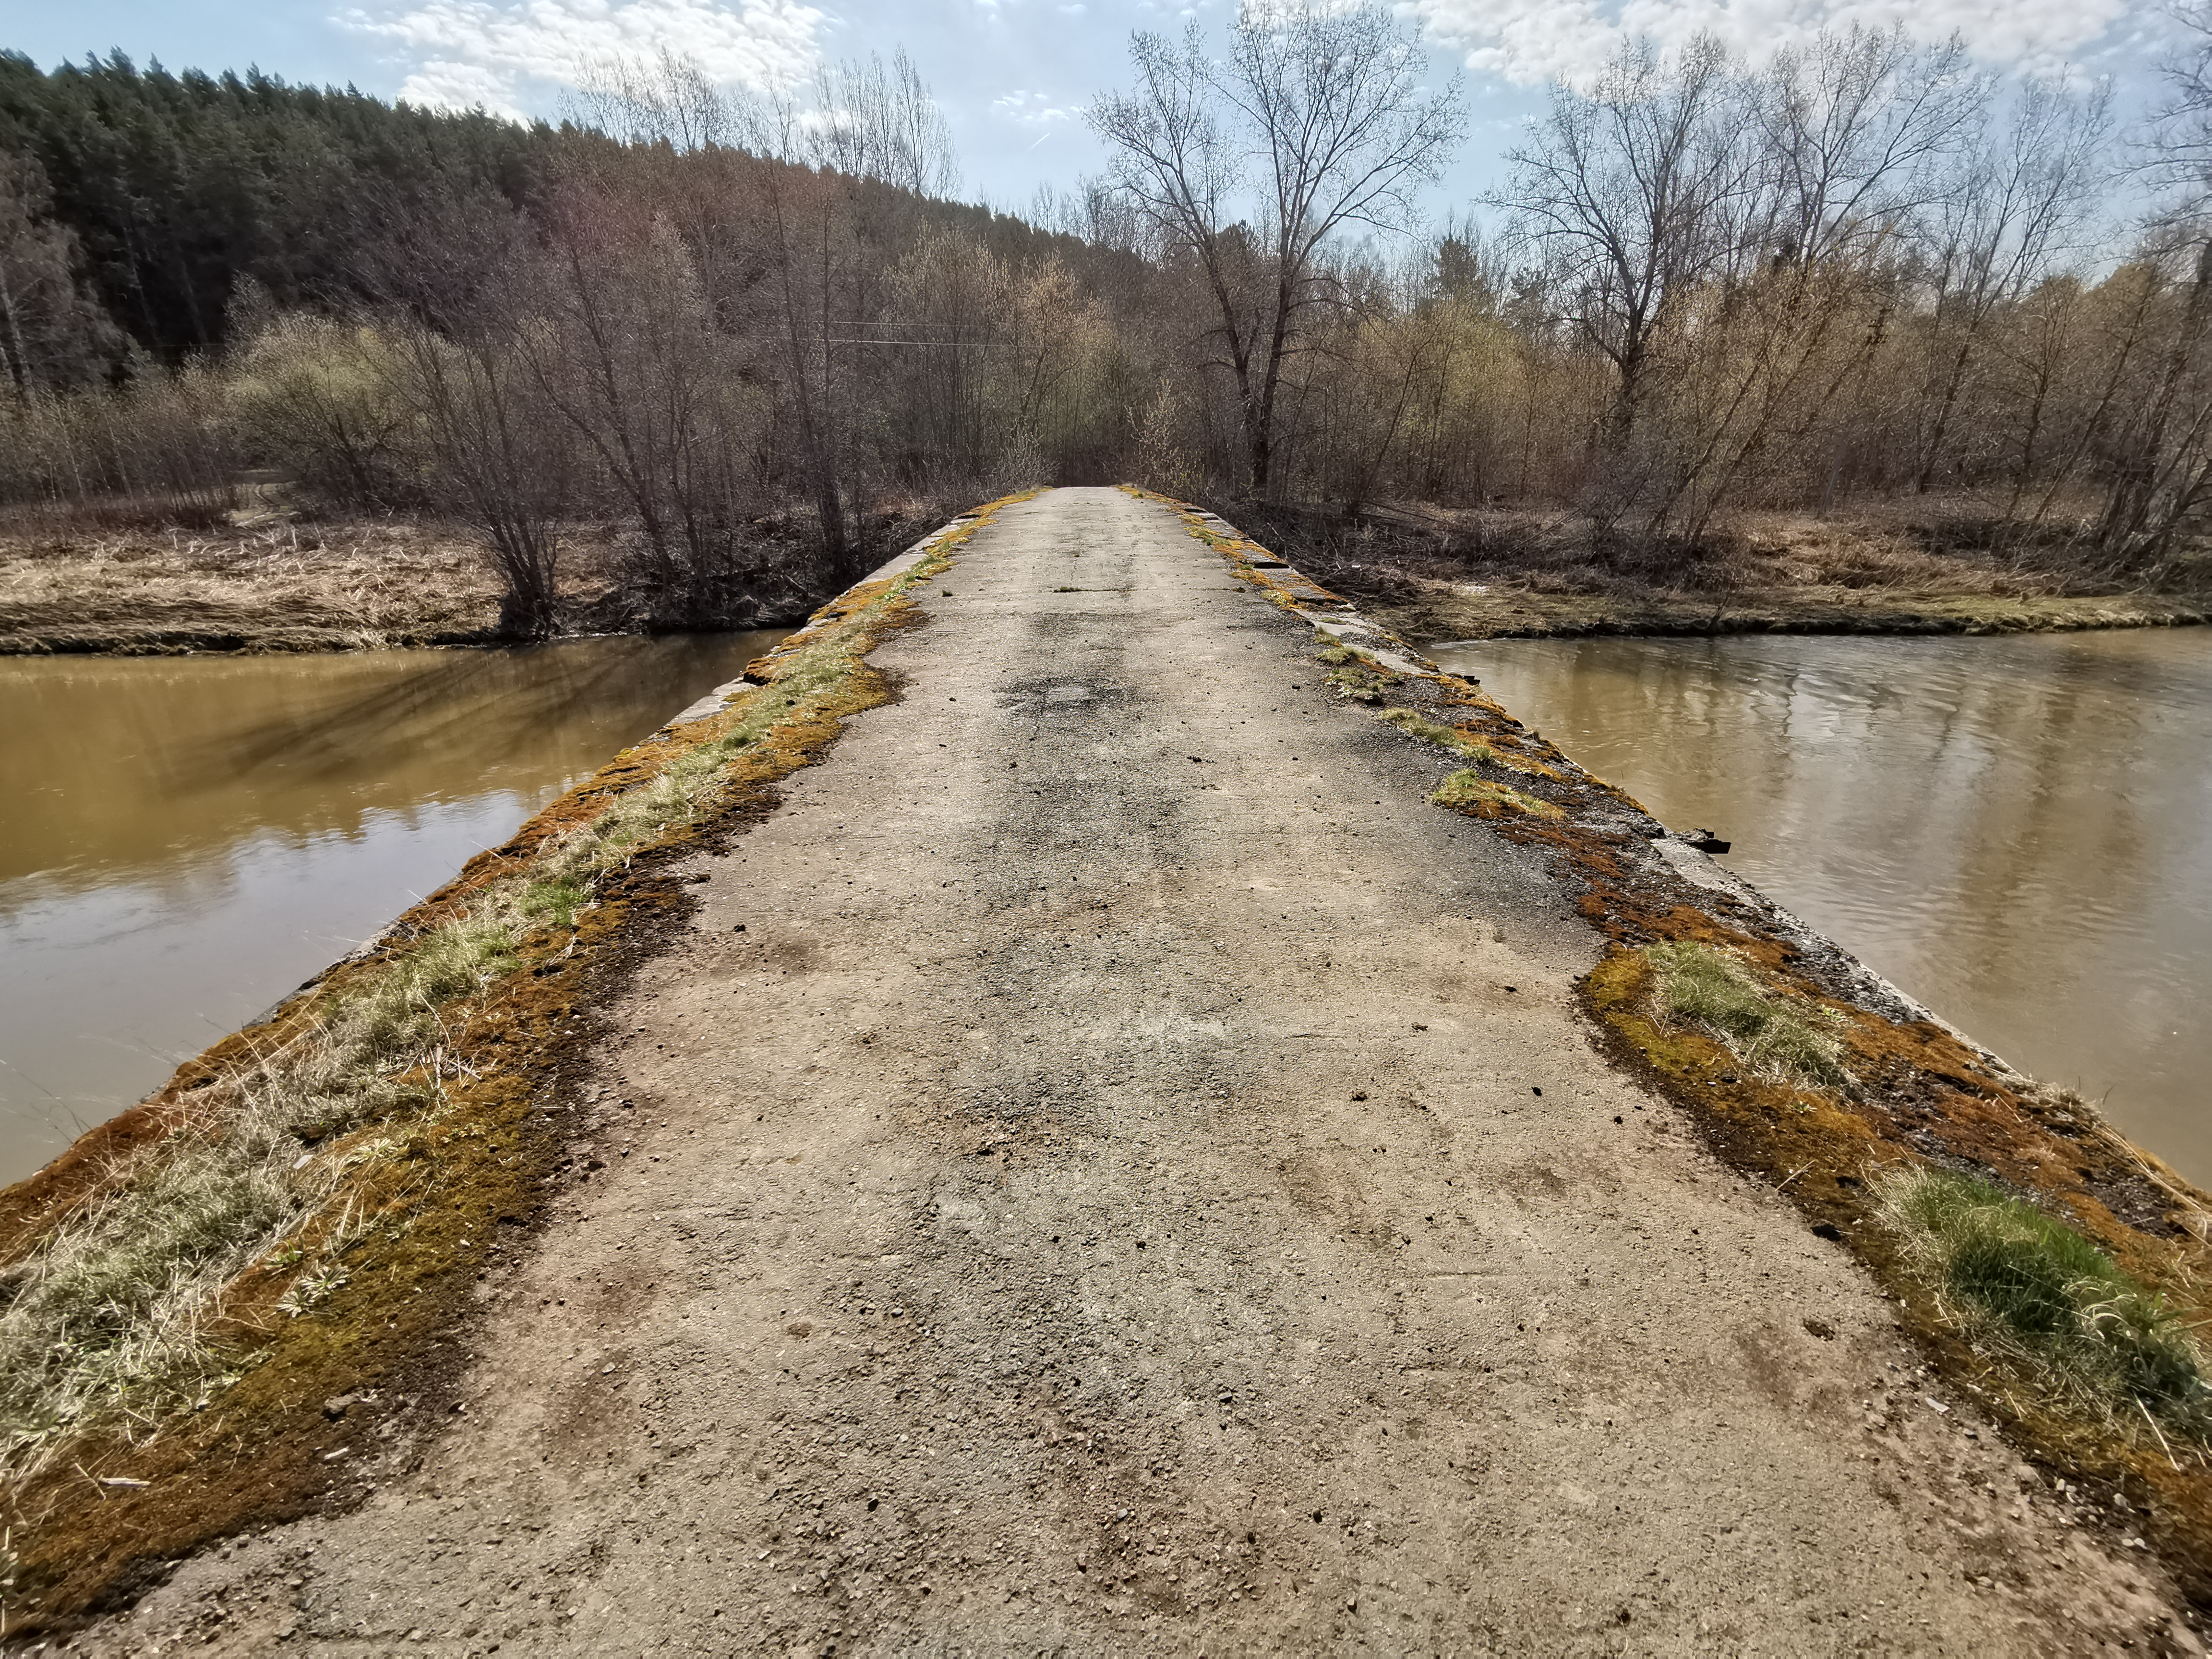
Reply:
<svg viewBox="0 0 2212 1659"><path fill-rule="evenodd" d="M608 1011L467 1409L80 1646L2192 1650L1168 509L936 586Z"/></svg>

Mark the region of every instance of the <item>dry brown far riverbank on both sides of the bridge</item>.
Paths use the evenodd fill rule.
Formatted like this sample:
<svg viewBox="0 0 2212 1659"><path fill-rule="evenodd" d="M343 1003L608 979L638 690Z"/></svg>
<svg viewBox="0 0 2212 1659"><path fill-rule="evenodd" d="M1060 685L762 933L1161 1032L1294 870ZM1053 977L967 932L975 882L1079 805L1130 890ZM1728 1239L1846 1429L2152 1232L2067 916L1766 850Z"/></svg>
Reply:
<svg viewBox="0 0 2212 1659"><path fill-rule="evenodd" d="M1573 515L1504 509L1369 509L1352 524L1281 504L1232 511L1314 580L1420 641L1575 635L1986 635L2170 628L2212 622L2212 560L2192 553L2159 586L2066 568L2048 549L1997 557L1898 513L1754 515L1710 555L1601 544ZM898 546L945 513L905 509ZM2042 560L2042 562L2037 562ZM714 628L796 624L823 597L792 580L801 524L761 531L761 575L732 588ZM655 630L628 555L573 526L562 633ZM703 626L703 624L701 624ZM113 531L0 524L0 657L374 650L500 644L500 584L451 526L400 520L303 524L246 515L212 529Z"/></svg>

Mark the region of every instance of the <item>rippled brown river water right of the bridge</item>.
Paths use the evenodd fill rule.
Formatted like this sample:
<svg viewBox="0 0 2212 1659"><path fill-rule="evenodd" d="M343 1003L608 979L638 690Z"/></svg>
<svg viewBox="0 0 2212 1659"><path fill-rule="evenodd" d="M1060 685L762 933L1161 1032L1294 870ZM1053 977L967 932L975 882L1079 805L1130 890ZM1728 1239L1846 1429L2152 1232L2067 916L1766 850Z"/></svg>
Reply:
<svg viewBox="0 0 2212 1659"><path fill-rule="evenodd" d="M2212 633L1433 655L2212 1186Z"/></svg>

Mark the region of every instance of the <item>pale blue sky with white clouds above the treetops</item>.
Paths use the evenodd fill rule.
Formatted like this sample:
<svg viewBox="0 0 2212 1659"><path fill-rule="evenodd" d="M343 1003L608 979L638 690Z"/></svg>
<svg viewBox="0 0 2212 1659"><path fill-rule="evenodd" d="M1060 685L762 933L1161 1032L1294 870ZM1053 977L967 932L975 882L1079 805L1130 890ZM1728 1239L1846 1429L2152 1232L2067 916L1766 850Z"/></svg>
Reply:
<svg viewBox="0 0 2212 1659"><path fill-rule="evenodd" d="M1626 33L1712 31L1761 55L1823 24L1958 31L1997 71L2110 75L2121 111L2152 95L2172 27L2148 0L1400 0L1438 82L1464 77L1467 146L1429 215L1500 181L1498 155L1553 75L1590 73ZM168 69L259 66L378 97L560 117L580 66L661 46L732 84L905 46L960 150L962 195L1022 210L1104 155L1082 108L1124 84L1135 29L1197 20L1225 38L1234 0L0 0L0 46L44 66L119 49Z"/></svg>

